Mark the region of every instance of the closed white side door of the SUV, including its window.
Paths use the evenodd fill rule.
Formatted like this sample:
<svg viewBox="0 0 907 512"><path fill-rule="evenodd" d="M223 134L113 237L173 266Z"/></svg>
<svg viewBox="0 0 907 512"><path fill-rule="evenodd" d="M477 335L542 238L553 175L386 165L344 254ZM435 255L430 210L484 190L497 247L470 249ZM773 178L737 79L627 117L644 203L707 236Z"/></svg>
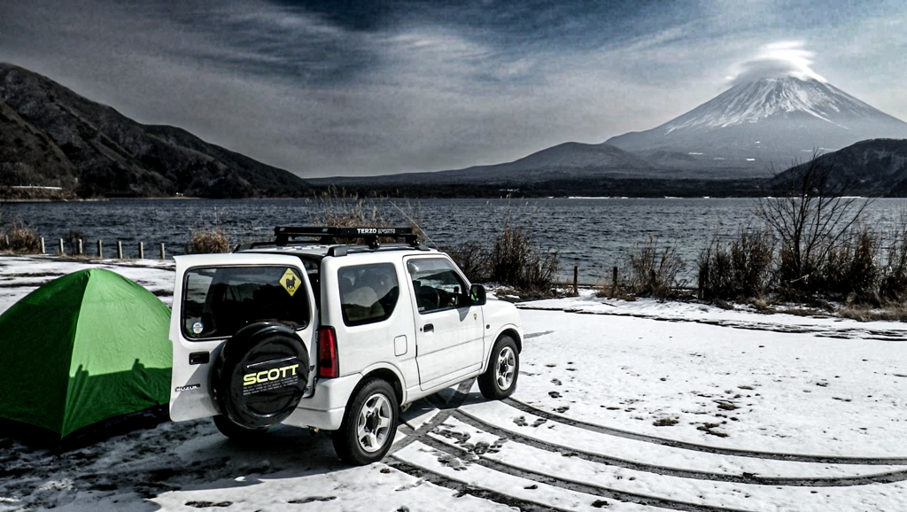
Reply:
<svg viewBox="0 0 907 512"><path fill-rule="evenodd" d="M482 308L470 305L469 282L441 256L406 259L415 312L419 386L432 389L482 367Z"/></svg>

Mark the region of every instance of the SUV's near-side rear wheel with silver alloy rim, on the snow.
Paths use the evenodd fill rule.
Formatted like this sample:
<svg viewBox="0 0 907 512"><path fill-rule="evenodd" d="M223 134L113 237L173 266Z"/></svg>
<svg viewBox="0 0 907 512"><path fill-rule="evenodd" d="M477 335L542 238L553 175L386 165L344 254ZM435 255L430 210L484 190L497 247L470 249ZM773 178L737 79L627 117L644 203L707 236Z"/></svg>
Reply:
<svg viewBox="0 0 907 512"><path fill-rule="evenodd" d="M365 466L385 457L394 443L398 410L394 388L384 379L367 379L346 404L340 429L332 435L337 456Z"/></svg>

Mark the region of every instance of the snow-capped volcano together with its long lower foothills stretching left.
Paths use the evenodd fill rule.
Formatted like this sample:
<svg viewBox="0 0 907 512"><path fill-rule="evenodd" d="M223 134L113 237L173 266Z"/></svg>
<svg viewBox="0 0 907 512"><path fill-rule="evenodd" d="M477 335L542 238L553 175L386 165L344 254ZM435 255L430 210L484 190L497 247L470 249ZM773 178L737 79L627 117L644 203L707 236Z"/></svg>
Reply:
<svg viewBox="0 0 907 512"><path fill-rule="evenodd" d="M907 195L907 179L903 184L895 179L902 173L900 163L873 163L884 168L880 177L863 176L869 171L858 165L867 159L876 162L878 155L901 155L902 141L892 139L907 139L907 123L828 84L808 63L799 68L783 59L752 64L727 91L688 113L604 143L562 143L513 162L454 171L312 182L364 191L385 186L393 192L406 186L459 187L454 194L519 190L537 195L746 196L762 193L766 178L810 160L816 151L850 148L859 155L847 159L853 165L840 172L861 175L868 192ZM888 142L876 147L871 141L876 139Z"/></svg>

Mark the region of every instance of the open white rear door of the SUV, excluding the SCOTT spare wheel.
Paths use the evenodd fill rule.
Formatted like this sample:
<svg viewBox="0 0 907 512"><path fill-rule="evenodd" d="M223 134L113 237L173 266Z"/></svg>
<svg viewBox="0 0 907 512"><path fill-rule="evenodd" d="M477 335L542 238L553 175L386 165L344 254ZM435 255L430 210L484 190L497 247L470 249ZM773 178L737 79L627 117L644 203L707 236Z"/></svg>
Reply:
<svg viewBox="0 0 907 512"><path fill-rule="evenodd" d="M178 256L176 275L170 329L173 420L220 414L211 398L210 373L223 345L249 323L287 323L307 348L309 360L316 360L316 302L298 258L254 253Z"/></svg>

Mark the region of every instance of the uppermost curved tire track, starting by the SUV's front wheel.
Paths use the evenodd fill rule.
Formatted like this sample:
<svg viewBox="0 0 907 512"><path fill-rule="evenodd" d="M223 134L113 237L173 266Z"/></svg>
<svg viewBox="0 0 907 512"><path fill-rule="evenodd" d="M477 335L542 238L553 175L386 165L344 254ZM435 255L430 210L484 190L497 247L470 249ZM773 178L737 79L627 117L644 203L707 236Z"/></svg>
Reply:
<svg viewBox="0 0 907 512"><path fill-rule="evenodd" d="M596 432L599 434L604 434L606 436L615 436L618 438L627 438L633 439L635 441L643 441L647 443L652 443L656 445L661 445L670 448L681 448L691 451L699 451L703 453L712 453L716 455L727 455L735 457L746 457L746 458L765 458L769 460L786 460L790 462L814 462L819 464L840 464L840 465L849 465L856 464L862 466L907 466L907 458L863 458L863 457L835 457L835 456L824 456L824 455L801 455L794 453L776 453L769 451L754 451L754 450L743 450L737 448L717 448L710 447L707 445L700 445L697 443L690 443L687 441L678 441L675 439L668 438L658 438L655 436L649 436L646 434L639 434L636 432L630 432L629 430L621 430L619 428L610 428L603 427L601 425L596 425L594 423L588 423L586 421L581 421L579 419L567 418L561 416L560 414L555 414L553 412L548 412L546 410L535 408L527 403L521 402L517 399L503 399L503 403L509 405L513 409L522 410L539 418L545 418L555 423L561 423L562 425L568 425L576 428L583 428L585 430L590 430L591 432ZM902 478L904 479L904 478ZM900 480L897 480L900 481Z"/></svg>

